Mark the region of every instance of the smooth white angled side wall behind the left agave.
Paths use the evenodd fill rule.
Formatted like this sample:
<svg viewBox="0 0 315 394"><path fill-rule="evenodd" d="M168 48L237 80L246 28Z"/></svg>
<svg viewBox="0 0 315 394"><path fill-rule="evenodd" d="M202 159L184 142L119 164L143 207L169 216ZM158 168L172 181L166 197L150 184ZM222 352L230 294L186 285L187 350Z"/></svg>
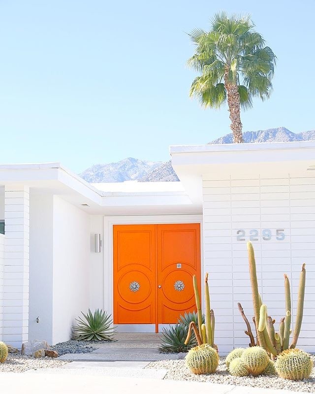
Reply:
<svg viewBox="0 0 315 394"><path fill-rule="evenodd" d="M53 209L53 335L52 342L68 340L71 326L89 308L90 216L54 196Z"/></svg>

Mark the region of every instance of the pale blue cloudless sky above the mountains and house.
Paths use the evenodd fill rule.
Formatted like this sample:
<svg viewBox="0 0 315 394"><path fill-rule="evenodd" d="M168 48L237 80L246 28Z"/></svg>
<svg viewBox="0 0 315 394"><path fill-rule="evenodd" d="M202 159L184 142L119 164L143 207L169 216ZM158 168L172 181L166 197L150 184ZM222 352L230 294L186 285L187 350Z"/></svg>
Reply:
<svg viewBox="0 0 315 394"><path fill-rule="evenodd" d="M186 33L220 10L252 14L278 57L272 98L243 130L315 129L314 0L0 0L0 161L79 172L228 133L226 108L189 99L186 67Z"/></svg>

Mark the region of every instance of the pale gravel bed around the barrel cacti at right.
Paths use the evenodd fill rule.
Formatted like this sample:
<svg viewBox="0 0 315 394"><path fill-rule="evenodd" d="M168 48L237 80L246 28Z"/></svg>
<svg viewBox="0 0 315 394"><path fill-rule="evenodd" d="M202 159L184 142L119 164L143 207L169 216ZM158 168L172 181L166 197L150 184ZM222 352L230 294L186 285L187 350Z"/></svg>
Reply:
<svg viewBox="0 0 315 394"><path fill-rule="evenodd" d="M312 356L315 361L315 356ZM194 375L185 366L184 360L152 361L146 368L165 368L168 372L164 379L191 380L196 382L211 382L238 386L260 387L264 389L283 389L315 393L315 368L309 379L293 382L278 376L235 377L231 376L225 366L225 358L220 357L216 373L211 375Z"/></svg>

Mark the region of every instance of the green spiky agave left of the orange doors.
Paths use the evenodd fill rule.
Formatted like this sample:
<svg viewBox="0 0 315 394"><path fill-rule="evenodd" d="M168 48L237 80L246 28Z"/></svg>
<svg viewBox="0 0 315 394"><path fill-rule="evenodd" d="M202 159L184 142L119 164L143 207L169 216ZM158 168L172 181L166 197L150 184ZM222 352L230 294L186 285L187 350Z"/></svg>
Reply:
<svg viewBox="0 0 315 394"><path fill-rule="evenodd" d="M79 317L75 319L78 324L72 327L73 339L78 341L113 341L115 330L113 328L113 319L102 309L96 309L94 313L89 309L84 319Z"/></svg>

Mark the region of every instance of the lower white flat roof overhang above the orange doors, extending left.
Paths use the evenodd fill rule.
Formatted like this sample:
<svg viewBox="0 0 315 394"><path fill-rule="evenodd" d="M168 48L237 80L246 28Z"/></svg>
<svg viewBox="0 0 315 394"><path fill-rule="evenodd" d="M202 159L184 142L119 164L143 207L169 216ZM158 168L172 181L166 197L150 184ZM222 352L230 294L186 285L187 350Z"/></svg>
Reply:
<svg viewBox="0 0 315 394"><path fill-rule="evenodd" d="M200 213L180 182L90 184L60 163L0 164L0 185L62 196L90 214ZM83 205L84 204L84 205Z"/></svg>

